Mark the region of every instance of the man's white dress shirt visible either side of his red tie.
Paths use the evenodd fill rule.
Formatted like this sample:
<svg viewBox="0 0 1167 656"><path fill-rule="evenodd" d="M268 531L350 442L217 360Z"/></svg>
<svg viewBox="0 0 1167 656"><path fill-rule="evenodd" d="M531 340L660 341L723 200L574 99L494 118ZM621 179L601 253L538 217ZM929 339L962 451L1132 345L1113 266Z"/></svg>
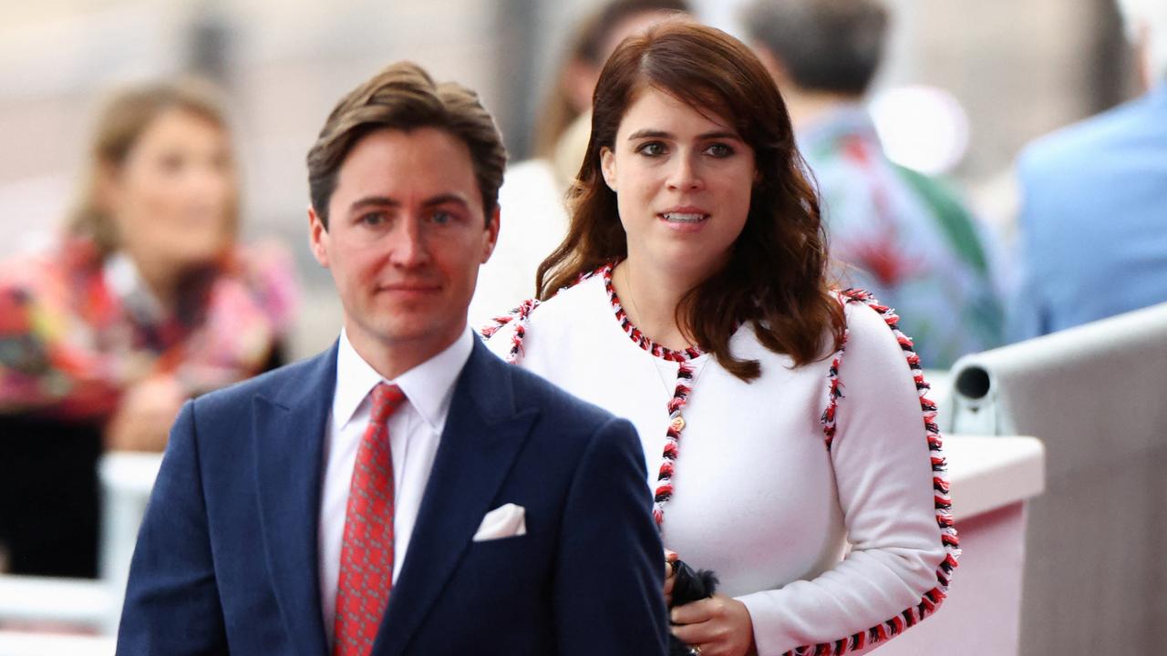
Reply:
<svg viewBox="0 0 1167 656"><path fill-rule="evenodd" d="M406 402L389 418L389 441L393 454L393 581L405 563L405 552L418 518L421 496L446 417L454 396L454 383L470 357L474 334L467 328L446 350L385 381L341 332L336 355L336 392L324 433L324 481L320 503L320 594L324 631L333 644L336 614L336 581L341 571L341 539L352 483L357 447L369 424L372 402L369 392L385 381L405 393Z"/></svg>

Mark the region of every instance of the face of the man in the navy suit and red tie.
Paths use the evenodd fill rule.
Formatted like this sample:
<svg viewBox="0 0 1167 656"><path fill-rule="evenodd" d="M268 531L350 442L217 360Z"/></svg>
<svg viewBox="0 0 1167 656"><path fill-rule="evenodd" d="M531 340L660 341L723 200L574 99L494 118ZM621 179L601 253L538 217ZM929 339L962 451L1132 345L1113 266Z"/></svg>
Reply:
<svg viewBox="0 0 1167 656"><path fill-rule="evenodd" d="M487 221L461 140L431 127L372 132L341 165L328 229L308 214L313 254L333 273L359 353L406 347L428 357L466 329L498 211Z"/></svg>

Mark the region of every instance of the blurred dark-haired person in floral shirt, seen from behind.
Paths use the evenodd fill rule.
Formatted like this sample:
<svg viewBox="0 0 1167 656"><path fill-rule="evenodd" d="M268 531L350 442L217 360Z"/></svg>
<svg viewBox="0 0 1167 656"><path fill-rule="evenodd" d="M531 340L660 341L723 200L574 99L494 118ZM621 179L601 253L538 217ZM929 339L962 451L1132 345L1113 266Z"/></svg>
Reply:
<svg viewBox="0 0 1167 656"><path fill-rule="evenodd" d="M844 286L894 307L925 367L1000 344L987 230L943 182L888 160L862 105L883 56L883 4L754 0L743 25L789 103Z"/></svg>

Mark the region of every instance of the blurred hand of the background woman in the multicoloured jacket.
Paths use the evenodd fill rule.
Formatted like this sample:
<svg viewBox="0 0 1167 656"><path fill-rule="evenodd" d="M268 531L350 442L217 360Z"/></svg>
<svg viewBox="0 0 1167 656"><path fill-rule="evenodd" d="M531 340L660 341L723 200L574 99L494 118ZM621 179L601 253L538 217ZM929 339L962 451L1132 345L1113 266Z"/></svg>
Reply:
<svg viewBox="0 0 1167 656"><path fill-rule="evenodd" d="M170 426L187 398L173 377L147 378L131 385L105 425L110 451L162 451Z"/></svg>

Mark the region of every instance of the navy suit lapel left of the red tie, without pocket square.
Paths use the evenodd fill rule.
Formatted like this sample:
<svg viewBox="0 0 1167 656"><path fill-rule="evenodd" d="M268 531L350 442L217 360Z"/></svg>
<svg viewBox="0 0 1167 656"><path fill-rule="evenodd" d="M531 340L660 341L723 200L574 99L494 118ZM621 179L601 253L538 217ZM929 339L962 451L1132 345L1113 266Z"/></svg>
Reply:
<svg viewBox="0 0 1167 656"><path fill-rule="evenodd" d="M280 615L299 654L328 651L320 606L317 525L324 423L336 386L336 344L257 397L257 490L267 571Z"/></svg>

